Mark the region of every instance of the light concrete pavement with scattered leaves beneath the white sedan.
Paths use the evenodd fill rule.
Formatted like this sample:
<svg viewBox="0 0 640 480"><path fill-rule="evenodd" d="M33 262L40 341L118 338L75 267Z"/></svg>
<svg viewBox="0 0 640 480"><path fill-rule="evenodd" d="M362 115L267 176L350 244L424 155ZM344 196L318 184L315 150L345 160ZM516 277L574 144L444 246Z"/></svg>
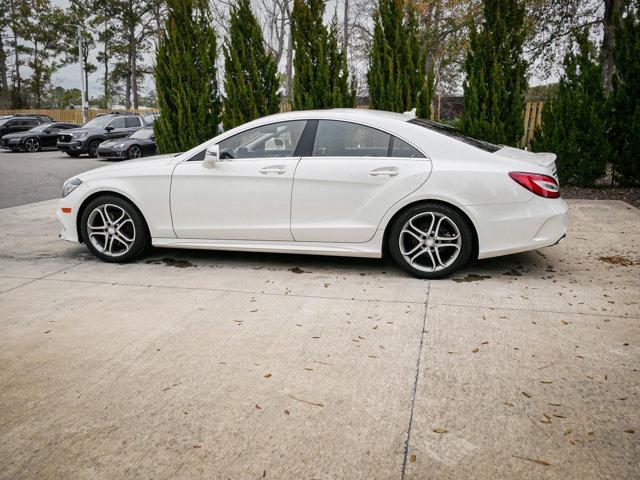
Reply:
<svg viewBox="0 0 640 480"><path fill-rule="evenodd" d="M440 281L0 210L0 478L638 478L640 211Z"/></svg>

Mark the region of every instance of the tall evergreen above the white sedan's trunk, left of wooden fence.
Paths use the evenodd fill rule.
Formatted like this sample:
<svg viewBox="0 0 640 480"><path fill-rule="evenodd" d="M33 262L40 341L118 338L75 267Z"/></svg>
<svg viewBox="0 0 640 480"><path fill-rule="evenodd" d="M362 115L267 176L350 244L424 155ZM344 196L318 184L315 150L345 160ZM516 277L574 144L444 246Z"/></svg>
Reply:
<svg viewBox="0 0 640 480"><path fill-rule="evenodd" d="M475 138L516 146L524 133L527 64L522 57L520 0L483 0L480 31L471 24L465 58L462 129Z"/></svg>

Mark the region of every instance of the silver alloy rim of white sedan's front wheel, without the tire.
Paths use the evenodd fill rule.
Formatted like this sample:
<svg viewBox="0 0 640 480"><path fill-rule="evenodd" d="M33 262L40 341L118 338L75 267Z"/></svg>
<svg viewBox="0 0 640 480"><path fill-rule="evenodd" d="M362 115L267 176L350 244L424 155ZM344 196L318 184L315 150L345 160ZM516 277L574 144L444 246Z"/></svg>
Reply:
<svg viewBox="0 0 640 480"><path fill-rule="evenodd" d="M105 203L89 214L87 236L100 253L120 257L131 250L136 239L136 227L124 208Z"/></svg>

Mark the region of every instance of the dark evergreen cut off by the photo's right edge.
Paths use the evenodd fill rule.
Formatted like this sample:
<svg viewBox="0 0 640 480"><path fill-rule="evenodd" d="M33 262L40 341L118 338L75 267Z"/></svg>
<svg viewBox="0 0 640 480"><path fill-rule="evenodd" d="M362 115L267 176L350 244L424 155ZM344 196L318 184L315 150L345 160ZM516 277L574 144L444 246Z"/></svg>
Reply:
<svg viewBox="0 0 640 480"><path fill-rule="evenodd" d="M615 26L613 91L609 138L615 179L640 185L640 1L628 2L626 16Z"/></svg>

